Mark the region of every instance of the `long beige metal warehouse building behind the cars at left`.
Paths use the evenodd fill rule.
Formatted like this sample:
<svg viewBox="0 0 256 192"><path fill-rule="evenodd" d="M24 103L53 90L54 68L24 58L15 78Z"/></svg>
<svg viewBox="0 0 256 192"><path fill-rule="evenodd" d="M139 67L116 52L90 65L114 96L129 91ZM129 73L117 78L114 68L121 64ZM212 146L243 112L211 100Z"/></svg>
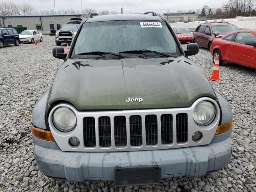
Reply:
<svg viewBox="0 0 256 192"><path fill-rule="evenodd" d="M12 15L0 16L0 27L26 27L27 30L38 30L43 34L58 30L73 17L88 17L89 14L56 14L56 15Z"/></svg>

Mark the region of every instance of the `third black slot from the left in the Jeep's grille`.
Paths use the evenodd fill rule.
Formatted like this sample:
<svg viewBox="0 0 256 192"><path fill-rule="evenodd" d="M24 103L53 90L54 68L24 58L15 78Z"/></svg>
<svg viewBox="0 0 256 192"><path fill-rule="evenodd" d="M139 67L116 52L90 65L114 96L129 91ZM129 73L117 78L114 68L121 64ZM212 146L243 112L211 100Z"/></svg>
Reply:
<svg viewBox="0 0 256 192"><path fill-rule="evenodd" d="M125 116L114 117L115 146L123 147L127 145L126 118Z"/></svg>

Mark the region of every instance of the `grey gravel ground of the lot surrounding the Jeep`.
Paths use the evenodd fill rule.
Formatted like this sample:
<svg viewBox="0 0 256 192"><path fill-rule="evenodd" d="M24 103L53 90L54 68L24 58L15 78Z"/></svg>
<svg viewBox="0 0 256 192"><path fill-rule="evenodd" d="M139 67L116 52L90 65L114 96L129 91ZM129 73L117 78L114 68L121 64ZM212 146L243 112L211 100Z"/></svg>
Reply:
<svg viewBox="0 0 256 192"><path fill-rule="evenodd" d="M212 86L229 101L234 113L234 153L226 168L202 177L162 180L159 185L118 188L114 182L62 182L38 171L33 156L31 114L34 104L50 88L57 71L52 57L54 36L44 42L0 49L0 191L255 191L256 192L256 73L224 64L223 82ZM186 45L184 45L186 47ZM207 50L190 57L206 76L213 64ZM60 67L61 60L58 60Z"/></svg>

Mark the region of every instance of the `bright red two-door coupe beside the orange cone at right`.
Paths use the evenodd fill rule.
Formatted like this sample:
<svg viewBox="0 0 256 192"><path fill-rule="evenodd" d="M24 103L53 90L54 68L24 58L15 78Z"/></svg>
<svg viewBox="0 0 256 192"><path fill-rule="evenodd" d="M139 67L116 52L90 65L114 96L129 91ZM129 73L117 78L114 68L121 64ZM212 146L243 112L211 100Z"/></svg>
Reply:
<svg viewBox="0 0 256 192"><path fill-rule="evenodd" d="M215 38L210 52L213 62L219 56L220 64L231 62L256 68L256 30L241 30Z"/></svg>

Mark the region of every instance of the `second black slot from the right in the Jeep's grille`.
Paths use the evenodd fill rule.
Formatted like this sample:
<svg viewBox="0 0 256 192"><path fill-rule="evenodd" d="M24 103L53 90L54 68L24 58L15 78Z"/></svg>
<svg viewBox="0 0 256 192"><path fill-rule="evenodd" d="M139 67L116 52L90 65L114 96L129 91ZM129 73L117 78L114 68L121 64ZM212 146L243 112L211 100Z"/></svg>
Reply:
<svg viewBox="0 0 256 192"><path fill-rule="evenodd" d="M171 144L173 138L172 115L161 115L161 138L162 144Z"/></svg>

